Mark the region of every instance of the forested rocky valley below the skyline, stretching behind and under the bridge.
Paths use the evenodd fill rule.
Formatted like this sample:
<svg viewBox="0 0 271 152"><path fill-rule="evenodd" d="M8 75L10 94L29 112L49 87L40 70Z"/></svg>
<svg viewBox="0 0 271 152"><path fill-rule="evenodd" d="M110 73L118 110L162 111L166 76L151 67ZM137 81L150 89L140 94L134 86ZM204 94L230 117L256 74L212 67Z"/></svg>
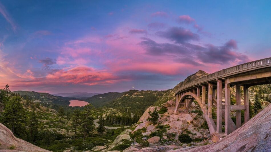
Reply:
<svg viewBox="0 0 271 152"><path fill-rule="evenodd" d="M206 75L207 73L198 71L169 90L108 92L84 101L47 93L10 92L5 88L1 90L0 103L3 109L0 120L12 129L9 123L12 115L7 111L10 106L22 106L24 112L19 116L24 120L20 123L25 126L25 133L22 134L20 130L23 128L17 128L19 130L13 131L14 135L41 148L57 152L122 151L128 147L133 151L146 147L168 151L207 145L213 141L199 104L193 102L188 114L184 112L185 109L180 108L180 114L175 115L173 96L179 86ZM231 91L235 92L234 88L231 88ZM252 86L249 95L250 114L253 117L270 104L271 85ZM14 103L10 104L10 101ZM234 96L232 102L235 102ZM256 109L255 102L259 102L261 108ZM154 117L152 114L155 109L158 117L154 122L149 118ZM234 112L232 119L236 121ZM187 135L184 141L180 138L183 134ZM0 145L0 148L3 146Z"/></svg>

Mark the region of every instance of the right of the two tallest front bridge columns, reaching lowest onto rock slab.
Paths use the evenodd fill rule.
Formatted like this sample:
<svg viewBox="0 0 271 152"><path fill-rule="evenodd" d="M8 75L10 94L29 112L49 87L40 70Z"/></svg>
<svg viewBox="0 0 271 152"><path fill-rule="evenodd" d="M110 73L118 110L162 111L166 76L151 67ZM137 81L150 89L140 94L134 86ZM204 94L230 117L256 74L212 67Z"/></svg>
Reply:
<svg viewBox="0 0 271 152"><path fill-rule="evenodd" d="M225 80L225 135L230 134L230 85L229 79Z"/></svg>

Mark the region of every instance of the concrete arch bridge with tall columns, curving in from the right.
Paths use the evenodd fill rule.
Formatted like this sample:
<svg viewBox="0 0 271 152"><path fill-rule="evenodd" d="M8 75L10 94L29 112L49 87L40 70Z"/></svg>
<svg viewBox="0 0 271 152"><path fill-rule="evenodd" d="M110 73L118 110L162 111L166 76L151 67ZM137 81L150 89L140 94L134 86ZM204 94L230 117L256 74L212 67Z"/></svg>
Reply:
<svg viewBox="0 0 271 152"><path fill-rule="evenodd" d="M185 112L188 112L192 102L197 101L207 121L212 140L218 141L241 127L241 110L244 110L244 123L249 120L248 88L261 84L271 84L271 57L226 68L180 87L175 92L175 114L179 114L181 105L186 108ZM241 86L244 90L243 104ZM236 89L235 105L230 103L230 87ZM223 96L225 103L222 102ZM217 119L212 118L213 105L217 107ZM231 110L236 110L236 124L230 117ZM225 121L225 132L222 132L222 121Z"/></svg>

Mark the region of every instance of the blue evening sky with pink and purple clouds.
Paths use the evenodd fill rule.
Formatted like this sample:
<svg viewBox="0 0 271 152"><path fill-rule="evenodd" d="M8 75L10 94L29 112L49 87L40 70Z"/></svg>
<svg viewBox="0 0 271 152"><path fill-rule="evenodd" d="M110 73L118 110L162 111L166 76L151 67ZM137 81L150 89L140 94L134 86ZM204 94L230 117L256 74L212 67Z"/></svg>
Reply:
<svg viewBox="0 0 271 152"><path fill-rule="evenodd" d="M271 57L271 1L0 0L0 88L173 88ZM134 87L134 88L133 88Z"/></svg>

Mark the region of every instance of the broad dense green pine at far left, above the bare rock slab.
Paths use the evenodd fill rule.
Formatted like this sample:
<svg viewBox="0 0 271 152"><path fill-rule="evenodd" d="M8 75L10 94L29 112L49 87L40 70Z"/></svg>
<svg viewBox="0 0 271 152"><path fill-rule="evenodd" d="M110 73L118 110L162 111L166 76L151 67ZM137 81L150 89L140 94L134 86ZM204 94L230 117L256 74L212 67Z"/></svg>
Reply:
<svg viewBox="0 0 271 152"><path fill-rule="evenodd" d="M19 96L13 96L7 102L3 113L3 124L8 127L16 137L25 137L26 112Z"/></svg>

